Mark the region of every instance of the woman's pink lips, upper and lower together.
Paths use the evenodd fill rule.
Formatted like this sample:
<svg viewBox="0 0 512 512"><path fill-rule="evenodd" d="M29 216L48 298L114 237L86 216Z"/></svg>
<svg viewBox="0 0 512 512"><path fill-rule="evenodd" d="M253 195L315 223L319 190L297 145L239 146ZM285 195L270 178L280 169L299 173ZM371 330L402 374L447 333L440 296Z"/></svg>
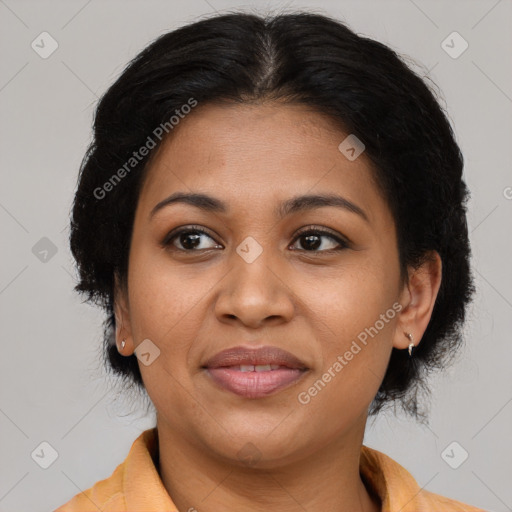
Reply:
<svg viewBox="0 0 512 512"><path fill-rule="evenodd" d="M286 350L265 346L219 352L203 368L213 383L244 398L263 398L296 383L306 365Z"/></svg>

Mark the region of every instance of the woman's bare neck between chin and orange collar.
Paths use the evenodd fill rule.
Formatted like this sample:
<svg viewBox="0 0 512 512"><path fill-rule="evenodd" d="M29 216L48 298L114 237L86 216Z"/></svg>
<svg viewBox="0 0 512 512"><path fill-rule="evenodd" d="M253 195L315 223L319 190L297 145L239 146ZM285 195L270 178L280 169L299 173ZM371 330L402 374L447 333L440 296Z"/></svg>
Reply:
<svg viewBox="0 0 512 512"><path fill-rule="evenodd" d="M364 421L366 418L364 418ZM363 428L305 458L265 469L242 466L186 442L160 417L159 471L179 511L380 512L359 474Z"/></svg>

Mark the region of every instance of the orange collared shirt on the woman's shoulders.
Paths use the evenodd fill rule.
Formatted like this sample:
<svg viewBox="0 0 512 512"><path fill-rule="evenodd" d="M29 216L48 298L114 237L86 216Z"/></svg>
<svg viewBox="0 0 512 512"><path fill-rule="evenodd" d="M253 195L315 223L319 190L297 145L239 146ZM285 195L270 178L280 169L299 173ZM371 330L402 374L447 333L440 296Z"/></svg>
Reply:
<svg viewBox="0 0 512 512"><path fill-rule="evenodd" d="M109 478L54 512L176 512L154 464L157 443L156 427L144 431ZM400 464L364 445L360 473L381 499L382 512L485 512L421 489Z"/></svg>

